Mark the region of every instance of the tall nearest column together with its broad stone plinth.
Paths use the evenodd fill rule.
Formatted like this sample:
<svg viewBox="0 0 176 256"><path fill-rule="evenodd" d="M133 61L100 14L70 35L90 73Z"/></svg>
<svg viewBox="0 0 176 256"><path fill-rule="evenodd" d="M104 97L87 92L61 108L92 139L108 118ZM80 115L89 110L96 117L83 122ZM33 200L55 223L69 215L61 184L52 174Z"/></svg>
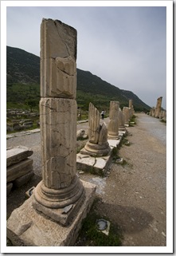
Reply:
<svg viewBox="0 0 176 256"><path fill-rule="evenodd" d="M70 246L89 211L96 186L76 175L76 30L41 23L42 180L7 221L17 246ZM99 135L104 144L104 127ZM21 219L20 222L17 219Z"/></svg>

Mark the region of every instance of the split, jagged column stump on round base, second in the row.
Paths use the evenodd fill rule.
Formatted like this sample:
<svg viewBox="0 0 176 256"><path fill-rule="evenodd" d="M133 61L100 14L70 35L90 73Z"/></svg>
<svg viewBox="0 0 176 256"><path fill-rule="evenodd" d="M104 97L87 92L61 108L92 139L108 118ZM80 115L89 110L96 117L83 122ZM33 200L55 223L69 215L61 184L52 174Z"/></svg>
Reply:
<svg viewBox="0 0 176 256"><path fill-rule="evenodd" d="M108 144L108 128L100 124L100 112L90 103L88 109L88 143L80 153L89 156L107 156L111 148Z"/></svg>

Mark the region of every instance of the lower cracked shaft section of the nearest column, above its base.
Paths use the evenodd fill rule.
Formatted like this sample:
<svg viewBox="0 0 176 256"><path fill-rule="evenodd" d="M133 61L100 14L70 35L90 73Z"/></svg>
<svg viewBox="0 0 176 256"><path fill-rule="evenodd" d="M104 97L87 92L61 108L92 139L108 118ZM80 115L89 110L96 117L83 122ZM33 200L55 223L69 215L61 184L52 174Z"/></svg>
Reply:
<svg viewBox="0 0 176 256"><path fill-rule="evenodd" d="M76 109L76 100L41 99L42 174L46 187L68 187L76 173Z"/></svg>

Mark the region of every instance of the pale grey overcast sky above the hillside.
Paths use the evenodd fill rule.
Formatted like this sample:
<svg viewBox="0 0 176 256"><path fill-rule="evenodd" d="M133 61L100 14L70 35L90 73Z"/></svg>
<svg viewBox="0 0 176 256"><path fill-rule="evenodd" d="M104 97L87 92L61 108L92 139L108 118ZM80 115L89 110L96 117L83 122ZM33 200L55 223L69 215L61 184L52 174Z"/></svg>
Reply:
<svg viewBox="0 0 176 256"><path fill-rule="evenodd" d="M166 108L166 6L9 6L6 45L40 56L42 18L77 30L77 68Z"/></svg>

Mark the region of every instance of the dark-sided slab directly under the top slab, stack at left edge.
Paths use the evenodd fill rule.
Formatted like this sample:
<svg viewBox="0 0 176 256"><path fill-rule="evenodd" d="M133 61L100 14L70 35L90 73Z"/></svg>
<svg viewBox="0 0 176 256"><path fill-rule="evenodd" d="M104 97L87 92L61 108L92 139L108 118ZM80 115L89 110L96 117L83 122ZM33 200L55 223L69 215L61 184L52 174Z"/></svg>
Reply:
<svg viewBox="0 0 176 256"><path fill-rule="evenodd" d="M27 174L29 171L33 170L33 160L26 159L22 160L20 163L14 163L6 169L6 182L18 179L22 175Z"/></svg>

